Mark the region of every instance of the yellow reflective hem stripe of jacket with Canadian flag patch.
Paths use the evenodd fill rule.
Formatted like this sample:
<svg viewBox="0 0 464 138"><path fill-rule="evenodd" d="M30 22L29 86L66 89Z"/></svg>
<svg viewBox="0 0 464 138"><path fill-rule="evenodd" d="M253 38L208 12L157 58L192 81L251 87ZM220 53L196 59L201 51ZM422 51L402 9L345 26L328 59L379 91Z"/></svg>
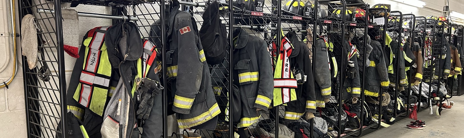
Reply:
<svg viewBox="0 0 464 138"><path fill-rule="evenodd" d="M204 122L213 119L221 111L219 110L218 103L215 103L213 107L209 108L205 113L200 114L199 116L193 117L191 119L177 119L177 124L180 129L186 129L193 126L203 124Z"/></svg>

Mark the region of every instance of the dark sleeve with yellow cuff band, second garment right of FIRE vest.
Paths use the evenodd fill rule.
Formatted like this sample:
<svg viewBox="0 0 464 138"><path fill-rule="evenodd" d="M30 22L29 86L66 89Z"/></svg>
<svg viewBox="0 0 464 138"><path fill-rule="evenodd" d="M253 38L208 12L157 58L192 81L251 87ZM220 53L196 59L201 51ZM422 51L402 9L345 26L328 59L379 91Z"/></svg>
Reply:
<svg viewBox="0 0 464 138"><path fill-rule="evenodd" d="M329 70L329 55L327 46L322 39L316 40L316 46L313 50L314 80L321 88L321 94L324 99L330 98L332 92Z"/></svg>

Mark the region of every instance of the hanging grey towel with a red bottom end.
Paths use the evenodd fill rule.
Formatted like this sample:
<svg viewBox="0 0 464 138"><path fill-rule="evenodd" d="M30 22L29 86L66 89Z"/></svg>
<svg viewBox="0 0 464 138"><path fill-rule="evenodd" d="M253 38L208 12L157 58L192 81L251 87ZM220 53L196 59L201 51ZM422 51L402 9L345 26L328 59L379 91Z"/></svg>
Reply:
<svg viewBox="0 0 464 138"><path fill-rule="evenodd" d="M64 51L74 58L79 58L79 16L74 9L61 10L63 18L63 44Z"/></svg>

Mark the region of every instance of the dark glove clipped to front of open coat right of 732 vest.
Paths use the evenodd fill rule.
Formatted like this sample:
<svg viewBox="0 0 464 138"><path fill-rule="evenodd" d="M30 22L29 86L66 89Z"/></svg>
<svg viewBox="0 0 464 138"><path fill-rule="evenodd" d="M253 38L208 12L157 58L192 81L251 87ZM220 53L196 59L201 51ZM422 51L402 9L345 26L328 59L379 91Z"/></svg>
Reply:
<svg viewBox="0 0 464 138"><path fill-rule="evenodd" d="M162 86L157 82L149 79L143 79L142 84L139 86L138 91L142 94L140 104L137 111L137 119L148 119L150 111L153 108L153 99L156 94L159 94Z"/></svg>

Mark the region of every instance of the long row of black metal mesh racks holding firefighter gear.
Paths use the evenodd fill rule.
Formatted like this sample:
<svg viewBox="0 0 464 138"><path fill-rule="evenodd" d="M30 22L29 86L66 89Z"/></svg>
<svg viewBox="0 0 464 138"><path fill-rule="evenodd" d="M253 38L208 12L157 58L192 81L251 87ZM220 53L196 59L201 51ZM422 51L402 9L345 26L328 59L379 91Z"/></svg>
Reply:
<svg viewBox="0 0 464 138"><path fill-rule="evenodd" d="M23 69L23 74L26 77L24 81L25 85L25 99L26 99L26 113L27 113L27 130L28 136L30 138L67 138L69 133L66 131L67 128L67 119L65 114L68 112L65 108L67 106L66 102L66 79L65 79L65 70L64 70L64 50L63 50L63 30L62 30L62 17L61 17L61 3L62 2L73 2L76 4L88 4L88 5L96 5L96 6L112 6L114 9L123 11L122 14L120 13L113 13L113 15L104 15L104 14L96 14L96 13L78 13L79 16L84 17L96 17L96 18L106 18L106 19L121 19L121 20L131 20L134 21L137 27L139 28L140 34L142 38L146 38L149 40L159 39L162 42L161 45L156 45L158 49L160 49L161 53L166 53L167 49L164 47L167 41L167 34L161 33L161 36L152 36L150 31L154 27L159 27L161 32L166 32L167 28L165 27L165 18L166 14L165 10L169 8L168 0L112 0L112 1L102 1L102 0L54 0L54 1L43 1L40 0L42 3L35 3L37 0L19 0L20 1L20 9L21 9L21 16L24 16L28 13L35 14L37 22L37 27L41 31L38 33L39 35L39 49L42 49L42 55L39 56L39 65L40 67L51 67L52 70L49 74L44 74L40 72L41 70L36 69ZM201 15L205 12L205 8L208 4L213 1L201 1L201 0L185 0L180 1L180 5L182 5L182 11L189 12L196 20L197 25L200 27L202 25L203 19ZM392 48L392 53L395 55L403 54L403 47L400 44L405 37L410 38L410 41L405 41L404 43L408 43L412 45L416 38L428 38L432 40L430 43L423 43L421 46L424 46L422 49L431 50L430 56L433 58L434 52L439 50L433 44L435 44L435 34L436 33L444 33L444 27L439 28L437 24L430 27L427 25L427 19L424 17L416 17L413 14L402 14L400 11L392 11L392 15L396 16L400 22L398 23L388 23L387 14L383 15L384 23L378 24L369 24L369 22L365 21L364 23L360 22L350 22L346 21L345 15L341 16L341 19L336 19L333 17L331 12L335 9L345 11L350 8L360 8L366 11L366 13L374 14L378 12L387 12L385 8L369 8L366 4L346 4L345 0L315 0L314 1L314 9L319 9L319 7L325 8L329 11L329 16L325 18L311 18L311 17L302 17L298 15L293 15L291 13L285 12L282 9L283 1L279 0L266 0L264 2L264 11L263 12L252 12L248 10L239 10L235 7L226 8L225 6L219 12L220 19L224 24L227 26L228 31L228 41L229 46L226 50L228 56L224 59L226 63L233 63L233 50L234 47L232 44L233 42L233 30L236 28L246 29L249 34L257 36L259 38L264 39L268 44L276 44L277 48L281 45L281 40L288 32L295 32L298 37L298 40L304 43L312 43L315 44L318 37L328 37L330 38L330 43L336 43L334 47L328 48L327 50L337 52L334 54L334 58L339 63L340 70L335 74L336 77L331 79L332 83L332 92L329 102L326 103L326 108L318 107L318 113L321 115L319 117L323 117L328 121L329 125L329 132L333 137L337 138L345 138L345 137L359 137L363 135L363 131L366 129L378 129L384 124L385 119L383 118L382 114L384 112L389 112L388 114L391 115L393 118L397 117L405 117L408 115L408 109L405 108L404 111L397 113L395 110L396 107L399 106L399 95L403 95L404 99L410 99L410 91L412 90L411 87L406 87L404 91L400 91L400 80L399 74L395 72L392 74L390 81L393 82L394 85L388 90L388 93L391 95L391 100L394 101L393 109L388 107L383 107L381 105L381 101L383 101L383 94L380 94L378 97L379 99L378 105L375 104L367 104L368 101L365 95L365 86L368 84L366 78L364 77L364 70L366 69L366 41L371 39L368 33L370 29L378 29L379 32L376 32L375 36L380 36L379 38L375 38L380 41L380 44L384 48L386 46L385 40L387 39L386 34L388 33L393 40L397 41L400 47ZM232 0L228 0L228 3L232 3ZM56 10L53 10L56 9ZM313 12L314 17L319 16L319 12L317 10L311 11ZM159 24L156 24L155 21L159 20ZM373 19L370 19L373 20ZM415 26L416 20L424 20L423 27L411 27L409 29L404 29L402 27L403 20L411 21L413 26ZM420 23L419 23L420 24ZM390 27L388 27L390 26ZM393 26L393 27L391 27ZM420 25L419 25L420 26ZM460 27L460 34L456 35L455 38L452 40L454 44L462 44L464 41L462 32L464 32L464 26ZM312 29L311 31L307 31L307 29ZM442 29L442 30L439 30ZM451 30L451 29L450 29ZM282 32L281 32L282 31ZM312 35L312 39L308 38L308 35ZM352 39L361 39L360 41L351 41ZM343 42L347 41L350 46L353 46L357 49L358 53L355 56L357 58L357 65L359 68L359 74L361 76L361 96L359 97L358 103L360 104L350 104L348 102L350 96L348 91L351 91L346 84L348 79L345 77L345 71L342 69L347 68L347 63L349 59L345 58L348 57L345 52L339 52L343 50ZM451 38L450 38L451 41ZM337 45L338 44L338 45ZM428 45L427 45L428 44ZM279 50L279 49L270 49L270 51ZM314 51L314 46L311 51ZM423 52L424 57L427 57L427 52ZM166 61L167 57L165 54L161 54L161 70L167 70ZM311 55L313 56L313 55ZM272 56L271 59L276 60L277 57ZM312 57L311 57L312 58ZM395 59L398 60L403 59ZM23 56L23 65L26 65L26 57ZM430 70L427 71L427 74L424 73L424 80L427 78L428 81L426 82L433 82L433 67L434 65L439 62L431 60L430 63ZM314 67L314 66L313 66ZM336 68L336 67L335 67ZM396 67L396 71L403 71L399 70ZM234 105L232 101L237 99L234 97L234 94L229 94L229 91L233 89L233 80L232 80L232 73L233 68L229 67L226 68L223 63L218 65L210 65L211 69L211 77L212 80L218 79L220 81L216 81L213 84L213 88L215 89L215 98L218 101L221 113L219 114L219 119L217 122L217 127L215 130L194 130L195 132L199 133L203 138L214 138L214 137L223 137L223 138L233 138L235 135L235 130L238 130L234 127L236 122L230 121L229 119L234 118L234 113L231 113L230 109L233 109ZM441 69L441 68L439 68ZM438 69L438 70L439 70ZM314 70L314 69L313 69ZM425 70L424 70L425 72ZM428 77L425 77L428 75ZM43 78L50 78L50 80L45 81ZM409 79L407 81L408 86L412 83L411 78L413 76L409 73L407 75ZM440 78L440 75L438 75ZM460 79L458 81L461 81ZM162 75L162 82L168 82L167 75ZM424 82L424 81L423 81ZM430 104L428 99L432 96L431 92L428 92L428 97L423 98L423 94L421 93L422 83L419 85L419 102L427 102L427 106ZM440 86L438 86L439 88ZM429 86L429 89L432 88L432 84ZM163 130L162 136L168 136L167 128L168 128L168 92L169 88L165 87L163 92L161 93L161 100L162 100L162 126L161 129ZM402 93L402 94L400 94ZM425 101L425 100L426 101ZM403 100L404 101L404 100ZM405 105L411 105L412 103L405 103ZM46 107L44 107L46 106ZM344 111L347 110L346 107L357 107L361 109L360 116L364 115L362 112L363 107L374 106L375 113L372 114L374 121L370 124L365 124L365 122L360 119L359 122L357 121L346 121L342 123L342 114L345 113ZM328 108L334 109L329 110ZM371 110L369 109L369 111ZM391 110L390 110L391 109ZM285 106L284 105L276 105L271 106L267 113L262 113L259 119L257 120L258 123L254 123L251 126L245 129L246 132L249 132L251 136L254 138L270 138L274 134L279 133L279 125L288 125L290 122L284 121L284 112ZM237 114L235 114L237 115ZM305 119L304 115L301 119ZM314 120L313 119L305 119L309 122L310 126L307 127L308 130L313 130ZM57 125L59 123L59 125ZM274 129L267 128L263 125L273 125L275 126ZM240 128L242 129L242 128ZM230 131L229 131L230 130ZM273 134L272 134L273 133ZM311 131L309 134L310 136L314 136L314 131ZM274 138L278 138L278 135L275 135Z"/></svg>

